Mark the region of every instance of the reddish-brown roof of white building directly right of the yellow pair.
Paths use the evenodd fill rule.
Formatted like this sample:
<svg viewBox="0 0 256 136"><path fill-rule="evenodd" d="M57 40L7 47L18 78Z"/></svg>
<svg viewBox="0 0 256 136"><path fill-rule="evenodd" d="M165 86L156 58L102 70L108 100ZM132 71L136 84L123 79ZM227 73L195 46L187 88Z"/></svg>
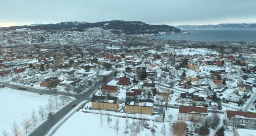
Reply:
<svg viewBox="0 0 256 136"><path fill-rule="evenodd" d="M179 113L208 114L207 107L179 106Z"/></svg>

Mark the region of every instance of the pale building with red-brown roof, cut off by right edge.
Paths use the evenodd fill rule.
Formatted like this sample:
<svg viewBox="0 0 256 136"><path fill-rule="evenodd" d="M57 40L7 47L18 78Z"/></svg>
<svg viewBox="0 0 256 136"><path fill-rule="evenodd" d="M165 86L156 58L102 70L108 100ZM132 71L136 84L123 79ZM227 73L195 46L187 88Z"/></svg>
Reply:
<svg viewBox="0 0 256 136"><path fill-rule="evenodd" d="M236 127L251 128L256 125L256 113L252 112L226 110L224 118L227 125L234 125Z"/></svg>

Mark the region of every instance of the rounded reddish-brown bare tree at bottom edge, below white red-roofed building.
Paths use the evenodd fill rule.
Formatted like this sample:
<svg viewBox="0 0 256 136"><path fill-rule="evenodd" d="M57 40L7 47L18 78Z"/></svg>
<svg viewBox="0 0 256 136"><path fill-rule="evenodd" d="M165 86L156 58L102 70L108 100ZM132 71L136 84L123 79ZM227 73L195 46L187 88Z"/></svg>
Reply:
<svg viewBox="0 0 256 136"><path fill-rule="evenodd" d="M172 125L172 134L177 136L184 135L186 130L186 123L184 121L177 121Z"/></svg>

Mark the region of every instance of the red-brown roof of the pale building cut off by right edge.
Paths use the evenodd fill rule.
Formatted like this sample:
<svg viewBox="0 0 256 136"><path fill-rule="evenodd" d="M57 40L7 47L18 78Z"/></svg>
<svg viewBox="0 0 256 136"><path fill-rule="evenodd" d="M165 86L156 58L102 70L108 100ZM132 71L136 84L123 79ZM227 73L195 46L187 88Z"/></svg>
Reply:
<svg viewBox="0 0 256 136"><path fill-rule="evenodd" d="M226 110L227 118L256 118L256 113L247 111ZM240 117L239 117L240 116Z"/></svg>

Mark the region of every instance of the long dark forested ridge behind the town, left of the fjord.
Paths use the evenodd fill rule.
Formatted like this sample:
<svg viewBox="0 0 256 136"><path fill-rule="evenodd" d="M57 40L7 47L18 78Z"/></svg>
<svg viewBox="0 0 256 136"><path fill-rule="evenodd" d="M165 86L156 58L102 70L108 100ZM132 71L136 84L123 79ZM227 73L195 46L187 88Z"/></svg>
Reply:
<svg viewBox="0 0 256 136"><path fill-rule="evenodd" d="M38 25L25 25L25 26L11 26L2 27L0 31L9 31L17 29L30 29L30 30L68 30L84 32L86 29L101 27L102 29L112 30L116 34L184 34L183 32L173 26L168 25L148 25L140 21L123 21L112 20L105 22L61 22L56 24L38 24Z"/></svg>

